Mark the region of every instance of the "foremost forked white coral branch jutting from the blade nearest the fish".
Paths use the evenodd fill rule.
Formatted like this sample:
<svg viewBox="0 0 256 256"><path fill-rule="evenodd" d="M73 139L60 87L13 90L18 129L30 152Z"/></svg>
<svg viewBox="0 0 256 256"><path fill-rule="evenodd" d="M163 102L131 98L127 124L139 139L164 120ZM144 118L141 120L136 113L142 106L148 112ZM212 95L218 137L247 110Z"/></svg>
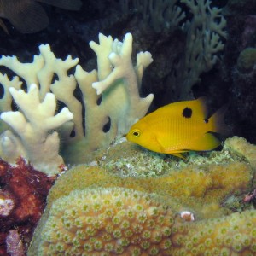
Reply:
<svg viewBox="0 0 256 256"><path fill-rule="evenodd" d="M110 40L112 40L110 38ZM102 52L101 44L96 44L95 42L90 42L90 47L96 52L99 57ZM113 71L108 74L105 79L98 82L94 82L92 87L96 89L97 94L102 94L110 86L113 86L115 81L122 79L122 83L125 84L125 94L129 96L131 107L129 109L125 108L126 119L119 123L119 133L124 134L129 131L131 125L145 115L148 111L148 103L152 102L153 95L149 94L146 98L140 98L139 91L137 88L141 84L141 79L143 76L143 70L145 67L153 61L151 54L149 52L141 52L137 55L137 67L133 67L131 62L131 52L132 52L132 36L131 33L125 35L124 43L119 44L116 39L113 41L113 52L108 55L108 59L113 66ZM100 64L100 63L98 63ZM137 72L136 72L137 71ZM102 77L104 75L102 74ZM149 103L149 104L150 104ZM127 106L128 107L128 106ZM128 112L126 111L128 110ZM138 112L139 110L139 112ZM122 113L119 113L122 114Z"/></svg>

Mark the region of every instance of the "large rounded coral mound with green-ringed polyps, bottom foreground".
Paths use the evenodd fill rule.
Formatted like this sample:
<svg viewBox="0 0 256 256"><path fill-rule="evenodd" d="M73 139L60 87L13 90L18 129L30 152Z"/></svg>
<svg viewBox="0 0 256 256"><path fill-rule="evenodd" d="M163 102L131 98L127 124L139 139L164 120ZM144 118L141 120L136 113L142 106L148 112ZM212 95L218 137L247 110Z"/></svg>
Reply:
<svg viewBox="0 0 256 256"><path fill-rule="evenodd" d="M154 195L75 190L53 204L38 255L165 255L173 218Z"/></svg>

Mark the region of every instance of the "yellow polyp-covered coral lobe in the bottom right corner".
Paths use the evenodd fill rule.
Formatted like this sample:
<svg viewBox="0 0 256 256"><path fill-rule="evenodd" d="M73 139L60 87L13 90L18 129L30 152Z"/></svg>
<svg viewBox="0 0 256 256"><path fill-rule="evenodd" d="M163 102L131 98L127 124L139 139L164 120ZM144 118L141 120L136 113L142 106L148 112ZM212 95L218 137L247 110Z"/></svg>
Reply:
<svg viewBox="0 0 256 256"><path fill-rule="evenodd" d="M174 224L172 255L256 254L256 211L236 212L189 224Z"/></svg>

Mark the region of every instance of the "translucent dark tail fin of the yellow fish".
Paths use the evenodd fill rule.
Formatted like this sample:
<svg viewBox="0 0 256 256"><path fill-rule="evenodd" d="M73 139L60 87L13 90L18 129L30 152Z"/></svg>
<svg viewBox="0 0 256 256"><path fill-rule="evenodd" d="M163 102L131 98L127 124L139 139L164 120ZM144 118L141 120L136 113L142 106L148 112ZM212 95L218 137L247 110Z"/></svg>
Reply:
<svg viewBox="0 0 256 256"><path fill-rule="evenodd" d="M228 104L225 104L223 107L219 108L215 113L212 114L209 119L210 127L212 132L217 132L223 135L228 134L228 127L224 123L224 116L228 109Z"/></svg>

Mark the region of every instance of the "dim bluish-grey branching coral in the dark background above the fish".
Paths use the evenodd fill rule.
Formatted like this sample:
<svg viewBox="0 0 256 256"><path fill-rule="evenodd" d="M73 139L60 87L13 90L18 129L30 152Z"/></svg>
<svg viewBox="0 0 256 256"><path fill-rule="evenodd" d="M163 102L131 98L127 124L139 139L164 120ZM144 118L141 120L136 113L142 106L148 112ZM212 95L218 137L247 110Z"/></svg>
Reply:
<svg viewBox="0 0 256 256"><path fill-rule="evenodd" d="M172 100L193 98L193 85L201 80L201 73L212 69L218 61L218 52L224 49L227 32L222 9L213 7L215 3L211 0L131 0L119 3L123 13L133 11L134 15L141 14L155 32L170 32L179 27L184 33L183 52L178 55L177 61L168 62L175 72L171 75L166 73L166 102L170 102L170 96ZM180 39L179 44L180 41L183 40Z"/></svg>

